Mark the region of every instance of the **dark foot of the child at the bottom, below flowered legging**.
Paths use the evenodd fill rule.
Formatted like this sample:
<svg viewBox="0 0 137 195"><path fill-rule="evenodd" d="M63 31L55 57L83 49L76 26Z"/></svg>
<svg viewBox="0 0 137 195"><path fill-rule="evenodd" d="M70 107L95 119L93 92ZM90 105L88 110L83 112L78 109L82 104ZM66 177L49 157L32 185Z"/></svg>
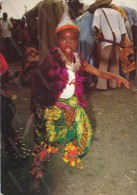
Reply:
<svg viewBox="0 0 137 195"><path fill-rule="evenodd" d="M32 193L40 193L42 189L41 179L34 178L30 183L30 191Z"/></svg>

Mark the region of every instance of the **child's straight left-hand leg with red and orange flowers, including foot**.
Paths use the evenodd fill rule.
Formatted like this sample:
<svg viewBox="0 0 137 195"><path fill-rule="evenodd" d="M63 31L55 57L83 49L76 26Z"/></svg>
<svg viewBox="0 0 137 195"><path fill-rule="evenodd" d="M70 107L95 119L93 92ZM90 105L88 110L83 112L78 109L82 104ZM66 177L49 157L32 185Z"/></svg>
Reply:
<svg viewBox="0 0 137 195"><path fill-rule="evenodd" d="M57 145L49 144L46 135L46 121L43 117L43 111L37 110L35 114L35 145L32 153L33 165L31 174L33 175L33 180L30 184L31 192L37 193L41 190L41 179L44 176L46 165L50 160L53 153L57 152ZM47 140L47 141L45 141Z"/></svg>

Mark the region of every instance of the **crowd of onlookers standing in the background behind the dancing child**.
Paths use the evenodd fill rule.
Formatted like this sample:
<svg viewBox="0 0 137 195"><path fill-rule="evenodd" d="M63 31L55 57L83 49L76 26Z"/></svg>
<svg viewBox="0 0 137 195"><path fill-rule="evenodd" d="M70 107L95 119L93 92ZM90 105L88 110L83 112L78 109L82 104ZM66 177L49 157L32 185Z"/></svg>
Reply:
<svg viewBox="0 0 137 195"><path fill-rule="evenodd" d="M97 1L95 5L87 5L84 3L84 0L80 2L78 0L70 0L68 2L71 18L81 30L77 51L81 52L92 66L105 71L109 69L110 72L119 73L129 80L134 80L136 74L135 61L137 58L137 11L129 7L118 7L112 3L112 0L102 1L101 3ZM107 18L103 13L104 11ZM0 40L2 43L0 51L6 60L8 62L22 60L23 63L26 63L23 60L26 55L25 49L31 46L39 53L39 61L41 62L48 49L56 46L54 30L62 13L63 6L61 1L50 2L48 0L40 1L18 20L13 18L9 20L8 13L3 13L3 18L0 20ZM51 22L52 25L50 25ZM119 28L119 26L121 27ZM113 29L112 32L111 29ZM123 43L120 41L121 35ZM126 71L123 69L120 60L121 48L122 44L125 45L125 38L129 41L125 52L132 45L134 47L132 47L132 52L130 49L128 51L133 53L131 61L133 61L134 56L135 62L134 66L133 63L129 62L132 65L128 66ZM104 62L104 64L108 63L107 66L102 62L101 56L104 56L104 53L108 55ZM113 53L115 56L113 56ZM100 57L98 58L97 56ZM113 60L111 64L111 58L113 57L115 61ZM126 59L124 60L126 61ZM126 63L129 64L128 62ZM30 67L31 65L29 65L29 70ZM32 64L32 69L34 67ZM109 87L106 86L107 82L105 80L99 79L97 81L97 78L92 75L87 75L87 77L88 87L96 83L96 88L98 89L107 89ZM116 83L112 84L112 82L110 87L114 88Z"/></svg>

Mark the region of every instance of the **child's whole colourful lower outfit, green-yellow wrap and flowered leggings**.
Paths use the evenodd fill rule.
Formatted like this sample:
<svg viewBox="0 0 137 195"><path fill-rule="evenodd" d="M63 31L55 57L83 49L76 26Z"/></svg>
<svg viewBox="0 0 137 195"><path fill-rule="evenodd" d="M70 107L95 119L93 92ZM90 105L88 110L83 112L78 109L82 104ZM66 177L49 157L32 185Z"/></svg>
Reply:
<svg viewBox="0 0 137 195"><path fill-rule="evenodd" d="M35 113L35 146L32 175L43 177L45 165L65 142L62 159L70 166L81 162L91 143L92 129L84 109L75 95L59 99L50 108L38 108Z"/></svg>

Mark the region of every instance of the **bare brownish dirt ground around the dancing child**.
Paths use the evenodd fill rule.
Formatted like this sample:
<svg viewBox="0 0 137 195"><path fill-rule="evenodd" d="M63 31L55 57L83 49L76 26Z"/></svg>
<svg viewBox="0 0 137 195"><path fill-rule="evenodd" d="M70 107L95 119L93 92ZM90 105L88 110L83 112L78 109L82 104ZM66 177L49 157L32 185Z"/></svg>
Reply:
<svg viewBox="0 0 137 195"><path fill-rule="evenodd" d="M18 69L18 63L10 65L11 71ZM30 88L22 87L18 79L10 85L17 95L14 126L22 136L29 116ZM63 162L61 145L47 167L40 195L137 195L137 79L129 90L91 90L86 96L94 138L83 159L84 169ZM32 149L33 130L25 144ZM2 194L31 195L30 170L31 157L12 167L2 148Z"/></svg>

